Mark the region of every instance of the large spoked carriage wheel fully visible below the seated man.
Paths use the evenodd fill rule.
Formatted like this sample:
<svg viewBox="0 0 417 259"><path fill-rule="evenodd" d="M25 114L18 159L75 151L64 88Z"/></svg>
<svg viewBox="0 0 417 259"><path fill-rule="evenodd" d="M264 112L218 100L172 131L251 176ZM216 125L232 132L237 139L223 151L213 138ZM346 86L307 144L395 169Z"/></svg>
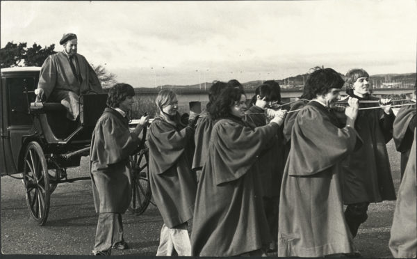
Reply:
<svg viewBox="0 0 417 259"><path fill-rule="evenodd" d="M26 147L22 178L29 212L42 226L48 218L50 192L47 160L38 142L33 141Z"/></svg>

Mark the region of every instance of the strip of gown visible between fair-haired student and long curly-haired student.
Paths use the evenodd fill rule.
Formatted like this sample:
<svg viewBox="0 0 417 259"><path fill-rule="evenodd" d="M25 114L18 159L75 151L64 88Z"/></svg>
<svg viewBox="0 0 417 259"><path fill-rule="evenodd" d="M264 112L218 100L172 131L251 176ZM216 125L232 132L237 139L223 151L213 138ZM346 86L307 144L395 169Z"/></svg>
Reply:
<svg viewBox="0 0 417 259"><path fill-rule="evenodd" d="M210 142L213 120L207 112L202 113L195 125L195 152L193 157L193 171L201 171L208 156L208 143Z"/></svg>

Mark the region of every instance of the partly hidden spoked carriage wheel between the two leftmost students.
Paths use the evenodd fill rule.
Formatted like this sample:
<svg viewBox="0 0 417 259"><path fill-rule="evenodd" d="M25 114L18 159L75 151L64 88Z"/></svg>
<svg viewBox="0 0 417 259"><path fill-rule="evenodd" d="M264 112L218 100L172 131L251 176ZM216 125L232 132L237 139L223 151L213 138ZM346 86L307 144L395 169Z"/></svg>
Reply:
<svg viewBox="0 0 417 259"><path fill-rule="evenodd" d="M149 150L144 148L131 155L132 166L132 200L129 210L142 214L151 202L152 192L149 185Z"/></svg>

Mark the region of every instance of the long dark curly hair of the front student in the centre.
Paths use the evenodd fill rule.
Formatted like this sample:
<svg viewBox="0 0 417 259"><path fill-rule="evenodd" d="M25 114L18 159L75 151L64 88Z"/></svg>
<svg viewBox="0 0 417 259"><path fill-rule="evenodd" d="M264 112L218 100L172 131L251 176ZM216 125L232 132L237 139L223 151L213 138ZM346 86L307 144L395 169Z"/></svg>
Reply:
<svg viewBox="0 0 417 259"><path fill-rule="evenodd" d="M227 118L231 114L231 107L240 101L242 95L245 92L240 88L226 88L222 91L222 94L208 107L207 111L213 120L220 118Z"/></svg>

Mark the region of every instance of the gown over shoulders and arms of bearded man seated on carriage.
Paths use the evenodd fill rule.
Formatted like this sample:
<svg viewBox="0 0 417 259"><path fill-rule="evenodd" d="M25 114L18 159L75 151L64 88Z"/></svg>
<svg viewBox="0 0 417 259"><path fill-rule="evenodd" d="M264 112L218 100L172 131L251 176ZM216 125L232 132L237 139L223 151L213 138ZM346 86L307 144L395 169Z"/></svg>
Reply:
<svg viewBox="0 0 417 259"><path fill-rule="evenodd" d="M95 74L85 57L76 54L76 58L79 64L81 80L78 80L74 72L72 72L70 61L64 52L51 55L44 61L40 70L38 88L44 90L47 101L58 101L49 100L54 91L72 91L76 95L103 92L97 74ZM81 84L79 81L81 81Z"/></svg>

